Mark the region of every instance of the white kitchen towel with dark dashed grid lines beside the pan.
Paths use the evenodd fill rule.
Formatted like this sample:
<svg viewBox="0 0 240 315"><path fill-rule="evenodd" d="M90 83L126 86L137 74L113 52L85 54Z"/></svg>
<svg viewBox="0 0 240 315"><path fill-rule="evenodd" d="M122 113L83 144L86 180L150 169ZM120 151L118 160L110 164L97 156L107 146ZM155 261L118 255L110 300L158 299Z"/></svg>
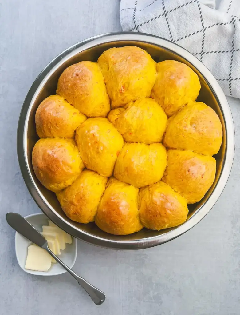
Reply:
<svg viewBox="0 0 240 315"><path fill-rule="evenodd" d="M121 0L120 21L186 48L240 98L240 0Z"/></svg>

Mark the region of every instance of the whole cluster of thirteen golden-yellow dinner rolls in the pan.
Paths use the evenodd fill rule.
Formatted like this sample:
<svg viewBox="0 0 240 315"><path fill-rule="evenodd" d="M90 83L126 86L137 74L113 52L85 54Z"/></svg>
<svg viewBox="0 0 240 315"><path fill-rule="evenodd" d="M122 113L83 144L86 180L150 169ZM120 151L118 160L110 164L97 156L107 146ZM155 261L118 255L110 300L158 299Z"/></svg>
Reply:
<svg viewBox="0 0 240 315"><path fill-rule="evenodd" d="M215 179L222 126L198 75L135 46L69 66L36 111L35 174L73 221L126 235L187 219Z"/></svg>

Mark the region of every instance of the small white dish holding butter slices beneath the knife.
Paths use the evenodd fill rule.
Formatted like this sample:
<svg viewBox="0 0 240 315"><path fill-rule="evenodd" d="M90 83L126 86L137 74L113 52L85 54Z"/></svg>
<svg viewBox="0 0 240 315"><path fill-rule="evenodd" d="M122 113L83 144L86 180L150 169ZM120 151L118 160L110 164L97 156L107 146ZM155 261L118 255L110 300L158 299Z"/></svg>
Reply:
<svg viewBox="0 0 240 315"><path fill-rule="evenodd" d="M42 226L48 225L48 218L43 213L36 213L33 215L25 216L25 219L36 228L37 231L42 232ZM55 276L66 272L66 270L59 265L58 262L52 263L51 268L47 272L34 271L25 269L25 262L27 258L28 246L31 245L31 241L16 232L15 235L15 251L19 266L27 273L38 276ZM69 268L72 268L77 258L77 240L72 237L72 243L66 244L66 248L61 250L61 255L58 255Z"/></svg>

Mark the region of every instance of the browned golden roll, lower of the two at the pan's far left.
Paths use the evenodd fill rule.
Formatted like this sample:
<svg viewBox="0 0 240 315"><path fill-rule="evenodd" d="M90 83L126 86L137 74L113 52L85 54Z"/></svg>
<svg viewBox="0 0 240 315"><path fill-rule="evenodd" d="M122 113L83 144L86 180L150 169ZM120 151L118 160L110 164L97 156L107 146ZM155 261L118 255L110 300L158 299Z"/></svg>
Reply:
<svg viewBox="0 0 240 315"><path fill-rule="evenodd" d="M53 192L71 185L84 168L75 141L61 138L38 140L32 165L37 179Z"/></svg>

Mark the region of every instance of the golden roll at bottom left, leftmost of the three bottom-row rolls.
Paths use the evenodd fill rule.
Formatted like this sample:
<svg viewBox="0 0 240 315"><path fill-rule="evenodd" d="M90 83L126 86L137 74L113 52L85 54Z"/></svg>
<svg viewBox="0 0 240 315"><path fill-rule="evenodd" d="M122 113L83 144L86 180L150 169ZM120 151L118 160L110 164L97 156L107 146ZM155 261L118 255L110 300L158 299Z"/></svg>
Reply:
<svg viewBox="0 0 240 315"><path fill-rule="evenodd" d="M57 193L65 215L76 222L93 222L107 180L93 171L82 171L72 185Z"/></svg>

